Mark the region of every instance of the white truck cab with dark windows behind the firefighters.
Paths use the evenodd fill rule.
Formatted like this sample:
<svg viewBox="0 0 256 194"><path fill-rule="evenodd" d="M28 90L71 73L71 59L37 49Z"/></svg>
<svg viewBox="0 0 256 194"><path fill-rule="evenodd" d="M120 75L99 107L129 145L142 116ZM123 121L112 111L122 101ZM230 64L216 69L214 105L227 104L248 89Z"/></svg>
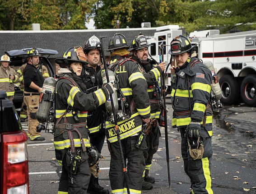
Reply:
<svg viewBox="0 0 256 194"><path fill-rule="evenodd" d="M168 54L170 49L170 43L173 38L177 37L178 35L182 34L182 30L179 29L178 25L167 25L161 26L156 28L156 32L154 33L154 37L147 37L148 43L151 44L149 47L149 54L154 58L154 60L159 62L159 49L158 45L164 45L164 61L166 64L170 62L171 55ZM166 70L167 78L165 80L167 86L167 92L171 93L171 76L174 72L172 66L169 65L168 69Z"/></svg>

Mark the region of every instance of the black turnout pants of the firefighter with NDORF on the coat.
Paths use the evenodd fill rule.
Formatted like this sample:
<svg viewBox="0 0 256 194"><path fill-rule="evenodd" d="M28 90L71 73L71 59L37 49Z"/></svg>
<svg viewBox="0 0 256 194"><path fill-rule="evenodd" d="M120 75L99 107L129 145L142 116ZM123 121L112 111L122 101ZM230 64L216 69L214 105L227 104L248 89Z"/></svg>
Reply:
<svg viewBox="0 0 256 194"><path fill-rule="evenodd" d="M127 181L130 194L140 194L142 186L142 174L145 168L145 159L143 150L147 148L145 139L141 143L140 149L135 147L138 135L127 137L121 140L124 159L127 163ZM126 194L126 180L122 171L122 160L120 155L119 143L110 143L107 141L108 149L111 154L109 179L112 188L112 194ZM125 162L126 164L126 162Z"/></svg>

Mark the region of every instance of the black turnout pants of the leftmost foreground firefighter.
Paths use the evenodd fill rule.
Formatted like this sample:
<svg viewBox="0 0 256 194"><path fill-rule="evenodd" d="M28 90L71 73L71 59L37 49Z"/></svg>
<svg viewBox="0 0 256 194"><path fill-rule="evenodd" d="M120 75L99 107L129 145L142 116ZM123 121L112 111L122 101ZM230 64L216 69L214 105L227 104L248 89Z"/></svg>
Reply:
<svg viewBox="0 0 256 194"><path fill-rule="evenodd" d="M82 150L82 148L79 148ZM77 148L76 148L77 150ZM74 153L75 155L75 153ZM58 194L86 194L90 181L91 172L88 164L87 152L81 153L81 163L79 166L79 173L72 174L73 184L71 184L70 174L71 156L66 149L65 156L62 160L62 173L59 184Z"/></svg>

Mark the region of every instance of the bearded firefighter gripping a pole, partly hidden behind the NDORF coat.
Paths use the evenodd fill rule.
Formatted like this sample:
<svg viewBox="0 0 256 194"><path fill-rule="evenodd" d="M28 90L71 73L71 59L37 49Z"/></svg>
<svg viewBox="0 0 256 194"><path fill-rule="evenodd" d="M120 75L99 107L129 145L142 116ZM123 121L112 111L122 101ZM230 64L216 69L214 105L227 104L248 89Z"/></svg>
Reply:
<svg viewBox="0 0 256 194"><path fill-rule="evenodd" d="M132 59L140 64L140 69L148 83L148 93L150 98L150 119L154 122L154 128L151 129L151 132L148 134L146 141L148 149L144 150L144 157L146 162L145 171L143 173L144 181L142 182L142 190L152 189L152 183L155 182L153 176L149 176L149 170L152 163L153 154L157 152L160 130L159 125L156 119L159 119L161 111L161 98L160 98L160 83L159 77L165 69L165 62L157 65L157 62L154 59L148 59L148 44L145 36L143 34L138 34L131 41ZM152 125L153 126L153 125Z"/></svg>

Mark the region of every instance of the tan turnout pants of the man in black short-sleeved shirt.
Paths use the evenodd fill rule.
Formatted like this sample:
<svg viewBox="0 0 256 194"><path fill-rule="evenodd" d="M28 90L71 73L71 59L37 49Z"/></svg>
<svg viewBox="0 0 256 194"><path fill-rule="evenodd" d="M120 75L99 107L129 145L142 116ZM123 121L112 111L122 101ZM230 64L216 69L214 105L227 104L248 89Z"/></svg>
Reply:
<svg viewBox="0 0 256 194"><path fill-rule="evenodd" d="M37 108L39 105L39 94L38 95L32 95L32 94L35 94L35 93L24 92L24 97L23 97L23 101L27 106L28 136L29 136L29 139L31 140L36 139L37 137L41 137L40 133L37 132L37 125L39 124L39 122L37 120L37 115L36 115Z"/></svg>

